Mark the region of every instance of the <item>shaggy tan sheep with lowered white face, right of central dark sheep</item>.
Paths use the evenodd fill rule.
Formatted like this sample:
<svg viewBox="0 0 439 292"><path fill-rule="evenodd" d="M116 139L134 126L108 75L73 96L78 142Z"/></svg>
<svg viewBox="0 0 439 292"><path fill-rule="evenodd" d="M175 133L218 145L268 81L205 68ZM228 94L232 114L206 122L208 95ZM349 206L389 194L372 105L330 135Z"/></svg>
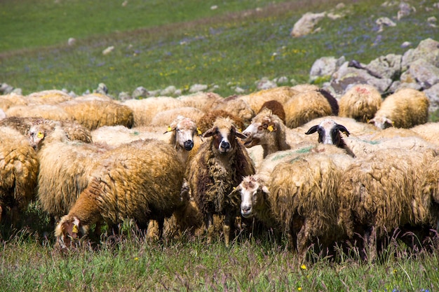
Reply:
<svg viewBox="0 0 439 292"><path fill-rule="evenodd" d="M349 165L353 158L332 145L320 151L297 153L274 167L265 167L244 177L233 191L241 193L243 217L256 216L271 228L281 228L302 259L316 239L323 247L330 247L343 237L337 190L346 168L341 165Z"/></svg>

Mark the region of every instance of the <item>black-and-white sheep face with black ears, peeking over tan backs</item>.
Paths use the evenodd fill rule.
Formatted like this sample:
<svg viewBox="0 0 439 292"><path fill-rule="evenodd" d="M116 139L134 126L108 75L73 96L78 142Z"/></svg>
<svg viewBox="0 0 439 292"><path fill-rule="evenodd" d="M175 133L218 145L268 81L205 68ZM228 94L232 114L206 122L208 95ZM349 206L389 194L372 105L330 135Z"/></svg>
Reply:
<svg viewBox="0 0 439 292"><path fill-rule="evenodd" d="M319 125L310 127L305 134L313 134L318 132L318 142L323 144L332 144L336 146L344 146L340 132L349 136L349 131L343 125L335 123L334 120L325 119Z"/></svg>

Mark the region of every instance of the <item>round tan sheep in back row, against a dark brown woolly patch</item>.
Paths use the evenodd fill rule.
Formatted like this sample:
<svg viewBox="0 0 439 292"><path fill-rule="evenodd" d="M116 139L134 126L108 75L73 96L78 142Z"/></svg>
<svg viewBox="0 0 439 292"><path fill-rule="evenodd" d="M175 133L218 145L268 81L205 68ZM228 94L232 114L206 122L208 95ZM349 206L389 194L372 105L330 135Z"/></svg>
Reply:
<svg viewBox="0 0 439 292"><path fill-rule="evenodd" d="M314 118L330 116L332 108L327 99L317 91L300 92L283 106L287 127L299 127Z"/></svg>

